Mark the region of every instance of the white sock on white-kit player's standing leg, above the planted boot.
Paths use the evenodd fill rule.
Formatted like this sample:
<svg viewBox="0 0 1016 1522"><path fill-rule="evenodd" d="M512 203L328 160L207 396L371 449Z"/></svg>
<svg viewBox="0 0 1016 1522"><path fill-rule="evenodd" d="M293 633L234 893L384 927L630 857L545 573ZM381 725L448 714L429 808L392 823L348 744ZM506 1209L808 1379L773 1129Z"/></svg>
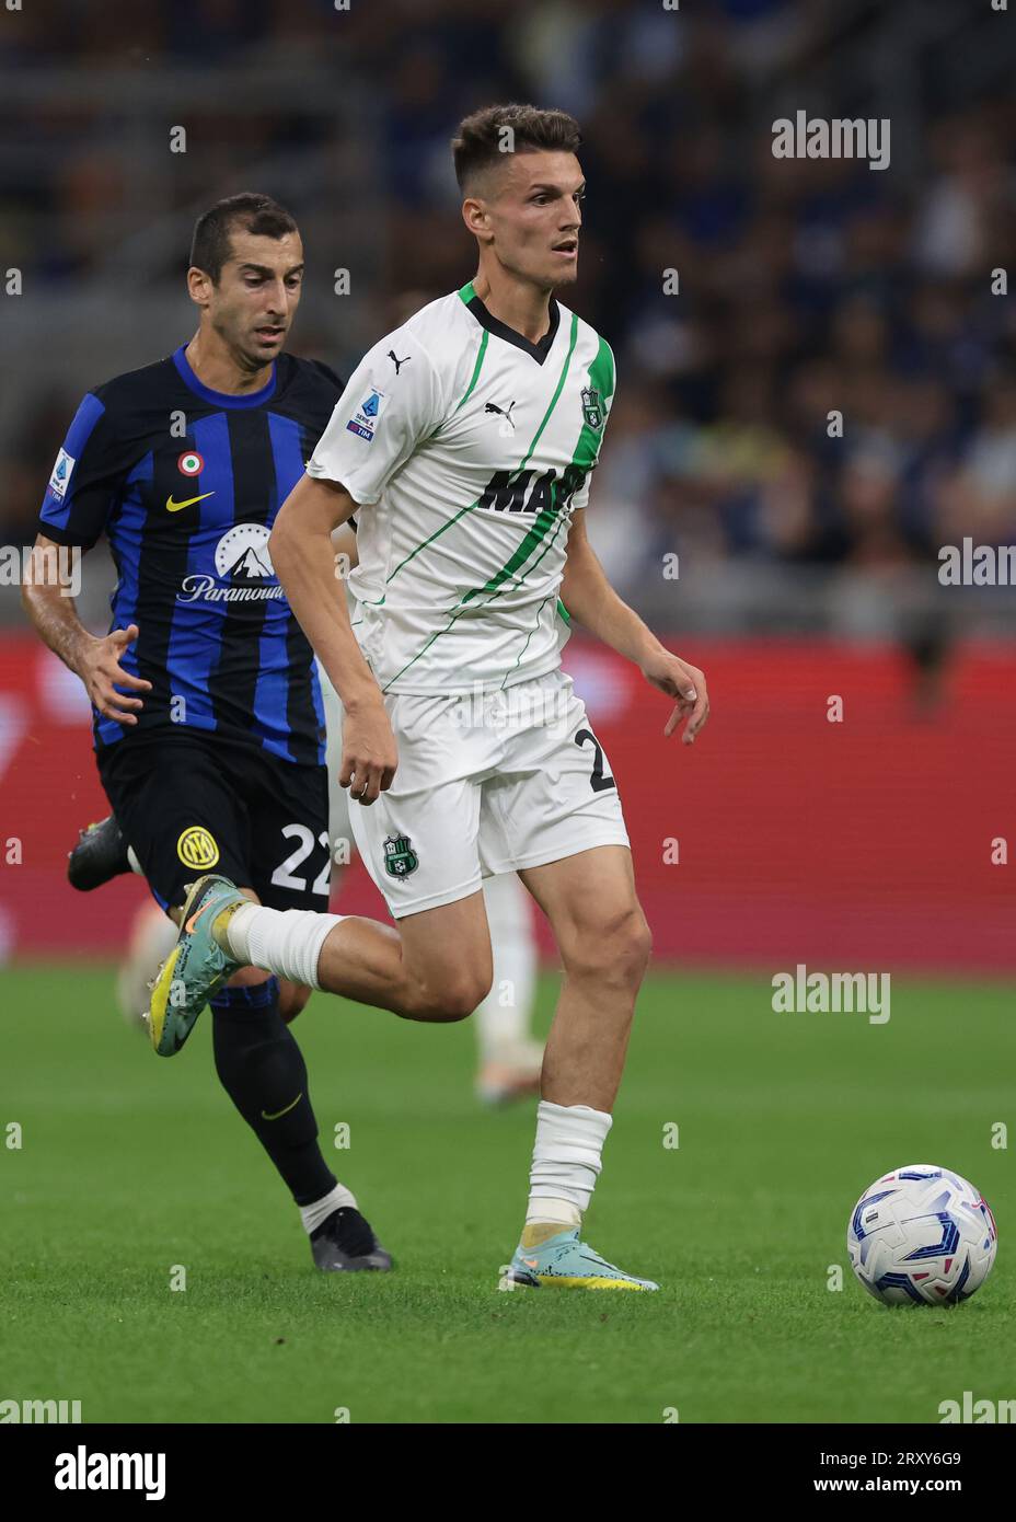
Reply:
<svg viewBox="0 0 1016 1522"><path fill-rule="evenodd" d="M601 1152L611 1123L605 1111L589 1105L540 1100L526 1225L534 1221L579 1224L602 1167Z"/></svg>

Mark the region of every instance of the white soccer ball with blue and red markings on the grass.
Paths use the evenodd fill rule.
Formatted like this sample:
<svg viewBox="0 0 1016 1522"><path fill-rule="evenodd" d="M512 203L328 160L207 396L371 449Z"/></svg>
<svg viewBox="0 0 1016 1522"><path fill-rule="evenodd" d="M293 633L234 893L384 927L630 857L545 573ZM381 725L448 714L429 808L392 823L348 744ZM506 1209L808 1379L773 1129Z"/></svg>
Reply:
<svg viewBox="0 0 1016 1522"><path fill-rule="evenodd" d="M995 1216L973 1184L928 1163L876 1180L847 1227L850 1266L887 1306L969 1300L990 1274L996 1245Z"/></svg>

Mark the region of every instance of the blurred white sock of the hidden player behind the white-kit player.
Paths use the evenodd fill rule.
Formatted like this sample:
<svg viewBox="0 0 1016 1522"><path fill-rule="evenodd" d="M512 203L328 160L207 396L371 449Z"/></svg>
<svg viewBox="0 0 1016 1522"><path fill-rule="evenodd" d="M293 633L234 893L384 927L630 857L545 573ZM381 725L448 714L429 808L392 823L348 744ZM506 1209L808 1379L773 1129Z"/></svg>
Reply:
<svg viewBox="0 0 1016 1522"><path fill-rule="evenodd" d="M529 1036L537 982L537 948L529 895L514 872L484 880L484 903L494 951L494 982L473 1023L481 1062Z"/></svg>

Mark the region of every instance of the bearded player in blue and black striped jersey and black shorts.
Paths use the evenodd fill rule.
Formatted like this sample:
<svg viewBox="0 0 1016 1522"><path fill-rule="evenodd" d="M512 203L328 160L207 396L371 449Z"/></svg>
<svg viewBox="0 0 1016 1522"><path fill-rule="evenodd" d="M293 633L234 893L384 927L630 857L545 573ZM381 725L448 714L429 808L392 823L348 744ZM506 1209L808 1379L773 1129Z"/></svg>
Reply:
<svg viewBox="0 0 1016 1522"><path fill-rule="evenodd" d="M105 638L59 586L27 586L24 601L85 683L102 785L173 918L211 868L263 904L327 909L321 689L268 554L342 391L325 365L283 353L303 265L294 219L268 196L205 212L187 274L198 332L85 396L40 511L40 546L87 551L105 533L113 551ZM216 1070L292 1192L316 1265L391 1268L318 1146L286 1023L307 997L256 968L234 977L213 1000Z"/></svg>

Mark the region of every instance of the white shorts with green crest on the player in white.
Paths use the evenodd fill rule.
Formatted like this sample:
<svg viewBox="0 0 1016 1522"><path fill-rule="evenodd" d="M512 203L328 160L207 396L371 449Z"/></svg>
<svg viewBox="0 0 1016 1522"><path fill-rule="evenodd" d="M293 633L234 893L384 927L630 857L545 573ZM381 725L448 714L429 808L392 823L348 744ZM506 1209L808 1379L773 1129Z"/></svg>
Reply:
<svg viewBox="0 0 1016 1522"><path fill-rule="evenodd" d="M563 671L500 693L385 699L398 746L376 804L350 801L356 848L394 919L482 878L628 845L618 785Z"/></svg>

